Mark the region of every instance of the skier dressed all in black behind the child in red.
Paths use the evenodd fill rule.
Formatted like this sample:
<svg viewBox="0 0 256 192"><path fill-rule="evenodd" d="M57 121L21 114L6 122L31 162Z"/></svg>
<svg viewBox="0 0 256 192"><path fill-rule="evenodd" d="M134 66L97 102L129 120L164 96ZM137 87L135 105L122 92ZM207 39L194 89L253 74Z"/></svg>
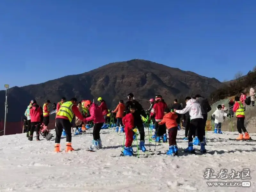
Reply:
<svg viewBox="0 0 256 192"><path fill-rule="evenodd" d="M147 118L147 114L145 113L145 111L144 111L143 107L140 105L140 103L138 101L134 100L134 96L132 93L129 93L127 95L127 98L128 98L128 101L125 103L126 114L130 113L130 106L136 108L135 112L133 113L134 127L137 127L140 132L140 150L145 152L146 151L145 131L144 131L144 126L143 126L143 122L142 122L140 115ZM136 136L135 134L134 134L134 138Z"/></svg>

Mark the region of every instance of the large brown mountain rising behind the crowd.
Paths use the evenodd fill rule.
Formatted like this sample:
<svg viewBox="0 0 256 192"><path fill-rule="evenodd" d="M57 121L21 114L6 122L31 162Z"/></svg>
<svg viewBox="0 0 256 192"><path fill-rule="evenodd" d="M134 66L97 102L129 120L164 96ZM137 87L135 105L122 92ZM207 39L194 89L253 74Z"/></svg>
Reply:
<svg viewBox="0 0 256 192"><path fill-rule="evenodd" d="M115 62L83 74L9 89L7 120L19 121L33 98L42 104L47 99L52 103L58 102L63 96L67 99L76 97L78 100L95 101L102 97L109 108L114 108L120 99L126 100L126 95L132 92L148 108L148 99L157 94L161 94L167 104L171 104L177 97L185 98L196 93L207 97L221 84L215 78L147 60ZM5 91L0 91L0 99L1 119L4 118Z"/></svg>

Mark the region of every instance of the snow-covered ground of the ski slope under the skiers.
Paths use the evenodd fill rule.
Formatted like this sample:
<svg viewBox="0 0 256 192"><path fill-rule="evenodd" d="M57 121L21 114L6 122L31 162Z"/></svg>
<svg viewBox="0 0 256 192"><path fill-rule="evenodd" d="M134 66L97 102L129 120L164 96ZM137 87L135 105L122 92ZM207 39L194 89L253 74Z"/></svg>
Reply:
<svg viewBox="0 0 256 192"><path fill-rule="evenodd" d="M184 131L179 131L180 156L161 154L140 158L119 157L124 133L117 134L110 129L101 130L103 149L97 152L86 150L91 144L92 130L72 137L73 147L77 149L73 152L64 151L66 139L63 138L63 152L59 154L53 152L54 139L30 142L25 134L1 136L0 191L256 191L256 142L227 139L236 138L237 132L235 135L232 132L222 135L208 132L208 153L193 155L182 152L187 147L183 136ZM256 139L256 136L252 135L252 138ZM146 147L149 149L148 139ZM167 149L166 143L156 145L156 151L166 152ZM154 146L151 150L154 151ZM208 187L207 181L221 180L204 179L206 168L212 168L214 174L220 169L228 169L231 173L231 169L250 168L251 187Z"/></svg>

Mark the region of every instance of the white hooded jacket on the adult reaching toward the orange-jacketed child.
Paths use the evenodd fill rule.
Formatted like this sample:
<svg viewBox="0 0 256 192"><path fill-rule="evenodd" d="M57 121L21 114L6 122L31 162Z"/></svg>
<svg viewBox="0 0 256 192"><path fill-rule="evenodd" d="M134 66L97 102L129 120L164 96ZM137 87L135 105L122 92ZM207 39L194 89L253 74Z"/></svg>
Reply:
<svg viewBox="0 0 256 192"><path fill-rule="evenodd" d="M190 115L190 120L204 118L202 116L201 105L195 99L188 100L187 105L184 109L176 110L175 112L179 114L185 114L188 111Z"/></svg>

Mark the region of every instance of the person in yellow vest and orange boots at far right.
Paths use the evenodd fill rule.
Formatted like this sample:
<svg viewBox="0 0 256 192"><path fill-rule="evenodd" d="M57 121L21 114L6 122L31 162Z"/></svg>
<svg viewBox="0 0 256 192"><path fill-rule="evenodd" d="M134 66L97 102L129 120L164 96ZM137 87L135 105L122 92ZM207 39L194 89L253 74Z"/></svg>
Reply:
<svg viewBox="0 0 256 192"><path fill-rule="evenodd" d="M244 119L245 119L244 105L239 101L238 96L235 97L235 101L236 103L233 107L233 111L236 113L236 118L237 118L236 127L237 127L237 131L239 132L239 136L236 139L237 140L250 139L250 135L248 134L246 128L244 127ZM243 136L242 130L244 132L244 136Z"/></svg>

